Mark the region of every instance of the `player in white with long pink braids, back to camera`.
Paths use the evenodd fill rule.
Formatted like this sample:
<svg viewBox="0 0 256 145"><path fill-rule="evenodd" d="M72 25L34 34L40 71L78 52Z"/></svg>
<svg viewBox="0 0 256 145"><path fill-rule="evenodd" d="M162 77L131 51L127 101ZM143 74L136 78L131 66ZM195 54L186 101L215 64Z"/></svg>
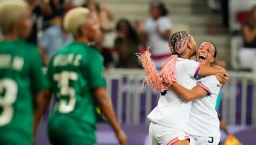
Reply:
<svg viewBox="0 0 256 145"><path fill-rule="evenodd" d="M196 43L188 32L177 32L169 41L171 57L163 64L161 72L156 72L150 53L138 55L147 74L145 79L154 90L168 90L177 81L180 85L191 89L195 86L196 77L209 76L216 73L225 74L218 67L201 66L199 62L189 60L195 55ZM178 57L179 56L179 57ZM161 93L157 106L148 114L151 121L149 127L150 144L188 145L188 119L191 102L184 102L172 90Z"/></svg>

